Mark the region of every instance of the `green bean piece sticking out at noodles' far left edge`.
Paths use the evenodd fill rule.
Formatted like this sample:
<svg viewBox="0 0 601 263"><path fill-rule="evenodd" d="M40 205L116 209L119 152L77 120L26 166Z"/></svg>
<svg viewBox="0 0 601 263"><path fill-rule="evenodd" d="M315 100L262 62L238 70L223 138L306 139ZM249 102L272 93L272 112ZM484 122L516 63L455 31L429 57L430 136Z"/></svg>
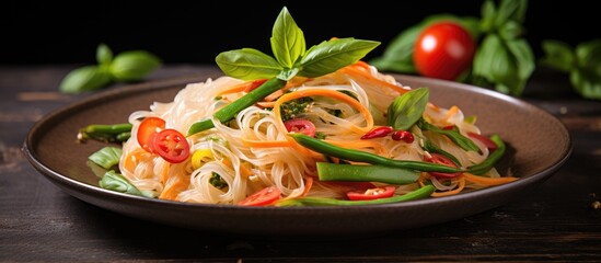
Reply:
<svg viewBox="0 0 601 263"><path fill-rule="evenodd" d="M130 123L91 124L79 129L78 140L82 142L88 139L103 142L123 142L131 136L132 126Z"/></svg>

